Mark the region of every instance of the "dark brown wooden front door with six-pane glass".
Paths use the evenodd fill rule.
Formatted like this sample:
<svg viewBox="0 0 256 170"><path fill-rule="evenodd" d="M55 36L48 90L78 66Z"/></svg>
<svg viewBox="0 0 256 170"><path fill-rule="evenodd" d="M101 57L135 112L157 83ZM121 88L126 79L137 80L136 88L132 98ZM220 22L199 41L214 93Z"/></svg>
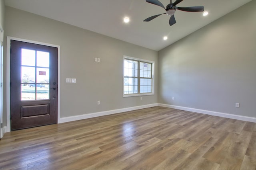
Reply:
<svg viewBox="0 0 256 170"><path fill-rule="evenodd" d="M57 123L58 49L11 40L11 130Z"/></svg>

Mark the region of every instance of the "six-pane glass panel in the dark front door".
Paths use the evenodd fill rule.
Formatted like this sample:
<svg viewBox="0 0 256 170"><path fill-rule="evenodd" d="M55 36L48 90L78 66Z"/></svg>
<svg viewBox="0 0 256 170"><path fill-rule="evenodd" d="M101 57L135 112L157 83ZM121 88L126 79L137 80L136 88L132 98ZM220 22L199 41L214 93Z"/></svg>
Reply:
<svg viewBox="0 0 256 170"><path fill-rule="evenodd" d="M50 53L21 49L21 100L49 99Z"/></svg>

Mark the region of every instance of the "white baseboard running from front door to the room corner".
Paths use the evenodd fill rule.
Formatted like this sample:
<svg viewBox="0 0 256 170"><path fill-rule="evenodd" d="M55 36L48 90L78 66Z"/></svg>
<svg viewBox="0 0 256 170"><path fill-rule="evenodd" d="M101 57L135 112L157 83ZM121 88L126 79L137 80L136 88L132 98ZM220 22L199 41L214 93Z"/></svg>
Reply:
<svg viewBox="0 0 256 170"><path fill-rule="evenodd" d="M122 112L125 112L125 111L144 109L144 108L154 107L154 106L157 106L157 104L148 104L148 105L142 105L142 106L126 107L126 108L123 108L123 109L115 109L115 110L100 111L100 112L96 112L96 113L88 113L88 114L77 115L77 116L62 117L62 118L60 118L60 122L58 122L58 123L65 123L65 122L69 122L69 121L88 119L88 118L104 116L104 115L112 115L112 114L115 114L115 113L122 113Z"/></svg>

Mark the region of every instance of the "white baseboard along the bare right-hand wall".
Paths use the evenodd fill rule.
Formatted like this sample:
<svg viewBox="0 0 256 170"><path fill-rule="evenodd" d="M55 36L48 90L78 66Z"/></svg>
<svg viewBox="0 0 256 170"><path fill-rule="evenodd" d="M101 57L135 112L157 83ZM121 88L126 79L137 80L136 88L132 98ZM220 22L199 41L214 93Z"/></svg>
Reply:
<svg viewBox="0 0 256 170"><path fill-rule="evenodd" d="M186 111L192 111L192 112L196 112L196 113L203 113L203 114L207 114L207 115L226 117L226 118L237 119L237 120L242 120L242 121L250 121L250 122L256 123L256 117L234 115L234 114L230 114L230 113L221 113L221 112L217 112L217 111L195 109L195 108L183 107L183 106L174 106L174 105L169 105L169 104L158 104L158 106L169 107L169 108L173 108L173 109L186 110Z"/></svg>

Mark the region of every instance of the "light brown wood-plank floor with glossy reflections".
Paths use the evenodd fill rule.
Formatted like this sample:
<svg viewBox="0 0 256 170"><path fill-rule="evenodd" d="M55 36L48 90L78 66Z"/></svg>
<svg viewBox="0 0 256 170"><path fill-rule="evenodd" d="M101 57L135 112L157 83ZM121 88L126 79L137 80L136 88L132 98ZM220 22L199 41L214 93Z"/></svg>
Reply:
<svg viewBox="0 0 256 170"><path fill-rule="evenodd" d="M0 169L255 170L256 123L151 107L12 131Z"/></svg>

